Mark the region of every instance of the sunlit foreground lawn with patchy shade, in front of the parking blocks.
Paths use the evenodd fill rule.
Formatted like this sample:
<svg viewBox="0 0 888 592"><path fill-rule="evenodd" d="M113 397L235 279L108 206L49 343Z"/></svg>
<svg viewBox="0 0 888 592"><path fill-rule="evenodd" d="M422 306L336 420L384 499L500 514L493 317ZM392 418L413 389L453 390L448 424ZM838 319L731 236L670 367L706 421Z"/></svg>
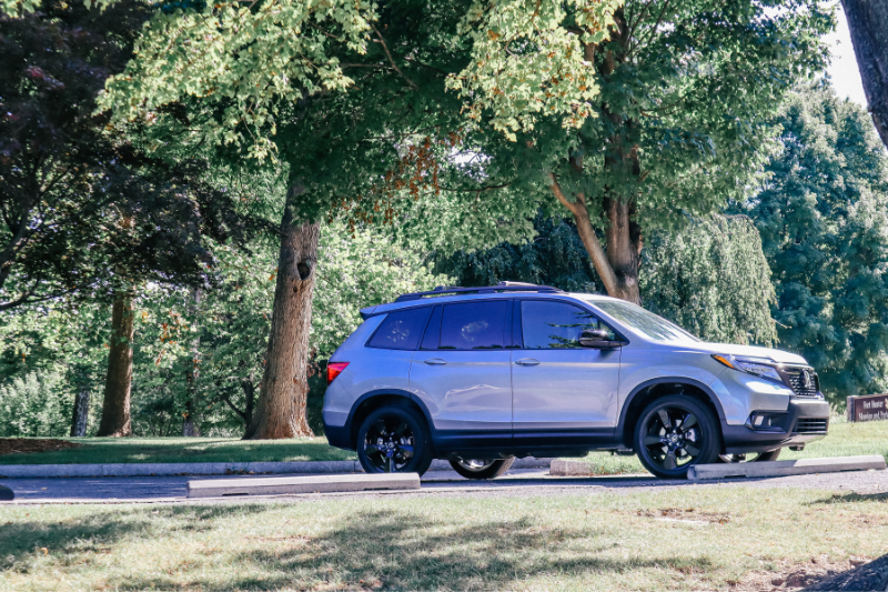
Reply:
<svg viewBox="0 0 888 592"><path fill-rule="evenodd" d="M17 592L726 590L753 572L886 552L885 494L0 505L0 590Z"/></svg>

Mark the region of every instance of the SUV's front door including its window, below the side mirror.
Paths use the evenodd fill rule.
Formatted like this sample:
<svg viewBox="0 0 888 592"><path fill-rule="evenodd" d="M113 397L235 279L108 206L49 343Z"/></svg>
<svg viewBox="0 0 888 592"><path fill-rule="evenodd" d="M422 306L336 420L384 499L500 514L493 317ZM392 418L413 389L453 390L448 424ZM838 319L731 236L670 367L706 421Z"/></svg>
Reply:
<svg viewBox="0 0 888 592"><path fill-rule="evenodd" d="M584 330L610 329L592 312L553 300L517 300L514 314L515 333L521 335L512 351L515 444L613 440L620 350L579 344Z"/></svg>

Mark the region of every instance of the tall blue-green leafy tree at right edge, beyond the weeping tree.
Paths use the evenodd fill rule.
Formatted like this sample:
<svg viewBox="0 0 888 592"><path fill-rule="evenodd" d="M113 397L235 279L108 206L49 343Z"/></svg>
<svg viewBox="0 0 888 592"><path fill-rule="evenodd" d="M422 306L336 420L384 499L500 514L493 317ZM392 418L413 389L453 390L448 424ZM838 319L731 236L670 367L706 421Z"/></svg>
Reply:
<svg viewBox="0 0 888 592"><path fill-rule="evenodd" d="M884 392L888 370L888 155L860 107L819 86L774 122L783 150L751 217L774 272L780 345L837 402Z"/></svg>

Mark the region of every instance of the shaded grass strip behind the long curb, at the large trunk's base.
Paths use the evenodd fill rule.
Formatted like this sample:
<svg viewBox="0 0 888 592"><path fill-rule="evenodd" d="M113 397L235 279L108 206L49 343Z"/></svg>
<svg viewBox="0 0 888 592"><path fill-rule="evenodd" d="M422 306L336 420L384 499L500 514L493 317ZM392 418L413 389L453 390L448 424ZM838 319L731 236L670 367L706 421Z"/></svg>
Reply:
<svg viewBox="0 0 888 592"><path fill-rule="evenodd" d="M354 453L325 438L234 440L228 438L70 438L80 448L29 454L2 454L0 464L79 464L115 462L342 461Z"/></svg>

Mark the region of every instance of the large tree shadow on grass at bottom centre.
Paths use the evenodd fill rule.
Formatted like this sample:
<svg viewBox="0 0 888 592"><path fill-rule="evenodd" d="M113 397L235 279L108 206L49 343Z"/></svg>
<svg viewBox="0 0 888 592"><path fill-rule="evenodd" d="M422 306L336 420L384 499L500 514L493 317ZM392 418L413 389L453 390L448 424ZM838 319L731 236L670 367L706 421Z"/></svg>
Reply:
<svg viewBox="0 0 888 592"><path fill-rule="evenodd" d="M273 533L270 533L273 534ZM285 540L281 544L281 540ZM275 540L274 536L269 538ZM314 538L279 536L279 543L229 558L210 558L239 566L233 580L209 581L205 566L183 562L175 578L109 582L120 590L178 586L221 590L505 590L525 588L539 574L553 579L618 576L636 570L662 569L704 573L707 558L607 556L618 543L594 523L549 528L528 518L492 518L458 528L428 514L367 511L335 530ZM623 553L620 553L623 554Z"/></svg>

